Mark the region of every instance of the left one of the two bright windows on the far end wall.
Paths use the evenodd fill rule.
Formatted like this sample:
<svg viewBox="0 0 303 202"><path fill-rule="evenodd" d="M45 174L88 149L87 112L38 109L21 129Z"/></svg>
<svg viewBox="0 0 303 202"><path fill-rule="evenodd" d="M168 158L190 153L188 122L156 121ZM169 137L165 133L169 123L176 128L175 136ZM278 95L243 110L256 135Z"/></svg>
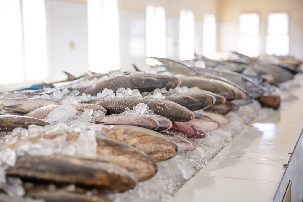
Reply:
<svg viewBox="0 0 303 202"><path fill-rule="evenodd" d="M240 15L239 28L239 53L249 57L257 57L260 54L259 15L257 13Z"/></svg>

